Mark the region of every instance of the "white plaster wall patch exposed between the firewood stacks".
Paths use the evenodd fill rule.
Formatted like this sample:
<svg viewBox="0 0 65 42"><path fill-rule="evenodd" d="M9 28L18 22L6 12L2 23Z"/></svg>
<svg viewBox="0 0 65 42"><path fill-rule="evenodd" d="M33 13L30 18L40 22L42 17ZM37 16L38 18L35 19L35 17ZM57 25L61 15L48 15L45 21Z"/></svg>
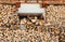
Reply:
<svg viewBox="0 0 65 42"><path fill-rule="evenodd" d="M18 13L44 13L44 9L40 9L39 4L21 4Z"/></svg>

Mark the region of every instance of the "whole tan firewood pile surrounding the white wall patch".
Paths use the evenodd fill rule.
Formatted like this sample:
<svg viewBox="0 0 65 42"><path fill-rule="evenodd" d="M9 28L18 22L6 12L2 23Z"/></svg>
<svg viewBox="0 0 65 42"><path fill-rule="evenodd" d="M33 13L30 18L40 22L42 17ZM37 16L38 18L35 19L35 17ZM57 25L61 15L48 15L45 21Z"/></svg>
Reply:
<svg viewBox="0 0 65 42"><path fill-rule="evenodd" d="M20 18L15 5L0 4L0 41L65 42L65 5L49 5L46 10L47 24L37 16Z"/></svg>

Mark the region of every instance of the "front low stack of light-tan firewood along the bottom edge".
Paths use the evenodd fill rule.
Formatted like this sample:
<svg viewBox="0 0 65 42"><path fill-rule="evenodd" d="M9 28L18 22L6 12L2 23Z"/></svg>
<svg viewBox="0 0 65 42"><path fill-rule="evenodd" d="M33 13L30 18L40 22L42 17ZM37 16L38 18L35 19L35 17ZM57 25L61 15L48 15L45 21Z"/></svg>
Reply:
<svg viewBox="0 0 65 42"><path fill-rule="evenodd" d="M9 30L0 31L1 42L58 42L58 36L35 30Z"/></svg>

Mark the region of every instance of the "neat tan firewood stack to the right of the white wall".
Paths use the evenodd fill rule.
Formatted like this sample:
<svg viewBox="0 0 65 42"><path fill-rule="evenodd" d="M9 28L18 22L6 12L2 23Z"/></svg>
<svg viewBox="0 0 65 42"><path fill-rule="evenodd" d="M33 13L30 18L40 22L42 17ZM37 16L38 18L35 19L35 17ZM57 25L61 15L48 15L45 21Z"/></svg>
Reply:
<svg viewBox="0 0 65 42"><path fill-rule="evenodd" d="M47 22L65 27L65 5L49 5L47 8Z"/></svg>

